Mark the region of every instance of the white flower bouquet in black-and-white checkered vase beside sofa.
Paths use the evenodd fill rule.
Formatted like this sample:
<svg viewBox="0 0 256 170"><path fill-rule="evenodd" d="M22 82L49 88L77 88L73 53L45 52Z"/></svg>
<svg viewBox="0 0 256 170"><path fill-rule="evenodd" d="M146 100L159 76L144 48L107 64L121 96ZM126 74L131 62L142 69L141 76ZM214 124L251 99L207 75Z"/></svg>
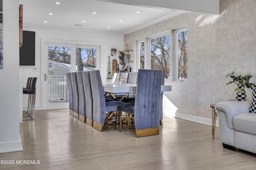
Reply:
<svg viewBox="0 0 256 170"><path fill-rule="evenodd" d="M225 73L225 76L233 79L233 81L228 82L228 84L235 83L238 87L235 88L236 92L236 100L246 100L246 93L244 91L244 87L252 89L252 83L250 83L250 78L256 76L256 72L251 72L248 69L238 69L238 70L227 70Z"/></svg>

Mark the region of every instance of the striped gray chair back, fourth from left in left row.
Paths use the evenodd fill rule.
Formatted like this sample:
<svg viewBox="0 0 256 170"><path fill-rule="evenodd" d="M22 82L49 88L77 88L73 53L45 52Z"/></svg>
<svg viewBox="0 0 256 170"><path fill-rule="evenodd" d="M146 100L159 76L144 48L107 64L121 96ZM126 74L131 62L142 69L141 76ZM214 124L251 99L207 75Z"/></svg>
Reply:
<svg viewBox="0 0 256 170"><path fill-rule="evenodd" d="M92 88L90 82L89 71L82 72L83 85L84 85L84 98L85 100L85 115L88 119L92 120Z"/></svg>

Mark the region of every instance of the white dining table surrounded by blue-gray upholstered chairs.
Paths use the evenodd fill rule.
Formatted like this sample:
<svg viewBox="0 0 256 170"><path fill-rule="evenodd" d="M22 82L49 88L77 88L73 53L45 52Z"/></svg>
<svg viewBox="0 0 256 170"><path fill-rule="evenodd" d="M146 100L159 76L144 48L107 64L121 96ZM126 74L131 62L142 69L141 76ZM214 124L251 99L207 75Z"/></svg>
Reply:
<svg viewBox="0 0 256 170"><path fill-rule="evenodd" d="M116 96L122 96L122 98L119 101L124 100L128 96L131 97L130 95L132 96L134 95L135 97L135 93L133 91L136 91L137 84L118 84L118 83L102 83L102 84L103 84L103 90L105 95L110 94L110 96L115 100L118 100ZM170 92L170 91L172 91L172 86L161 85L161 92L160 92L161 94L163 94L164 92ZM106 120L110 119L111 116L112 114L108 115ZM122 129L122 112L121 111L119 113L118 124L119 124L119 131L121 131Z"/></svg>

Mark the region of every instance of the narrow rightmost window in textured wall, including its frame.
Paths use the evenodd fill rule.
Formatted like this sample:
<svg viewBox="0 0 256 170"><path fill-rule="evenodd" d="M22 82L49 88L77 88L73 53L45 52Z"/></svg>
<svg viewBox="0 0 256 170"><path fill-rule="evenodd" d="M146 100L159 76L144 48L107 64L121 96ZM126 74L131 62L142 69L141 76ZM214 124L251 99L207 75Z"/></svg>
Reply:
<svg viewBox="0 0 256 170"><path fill-rule="evenodd" d="M187 79L188 30L186 27L174 30L174 60L176 80Z"/></svg>

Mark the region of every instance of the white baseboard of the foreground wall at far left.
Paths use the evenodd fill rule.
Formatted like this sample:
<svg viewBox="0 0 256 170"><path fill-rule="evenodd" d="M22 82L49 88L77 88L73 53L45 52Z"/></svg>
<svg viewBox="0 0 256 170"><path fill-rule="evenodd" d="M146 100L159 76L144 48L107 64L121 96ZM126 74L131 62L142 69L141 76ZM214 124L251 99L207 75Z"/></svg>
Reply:
<svg viewBox="0 0 256 170"><path fill-rule="evenodd" d="M21 139L13 142L0 143L0 153L22 151Z"/></svg>

